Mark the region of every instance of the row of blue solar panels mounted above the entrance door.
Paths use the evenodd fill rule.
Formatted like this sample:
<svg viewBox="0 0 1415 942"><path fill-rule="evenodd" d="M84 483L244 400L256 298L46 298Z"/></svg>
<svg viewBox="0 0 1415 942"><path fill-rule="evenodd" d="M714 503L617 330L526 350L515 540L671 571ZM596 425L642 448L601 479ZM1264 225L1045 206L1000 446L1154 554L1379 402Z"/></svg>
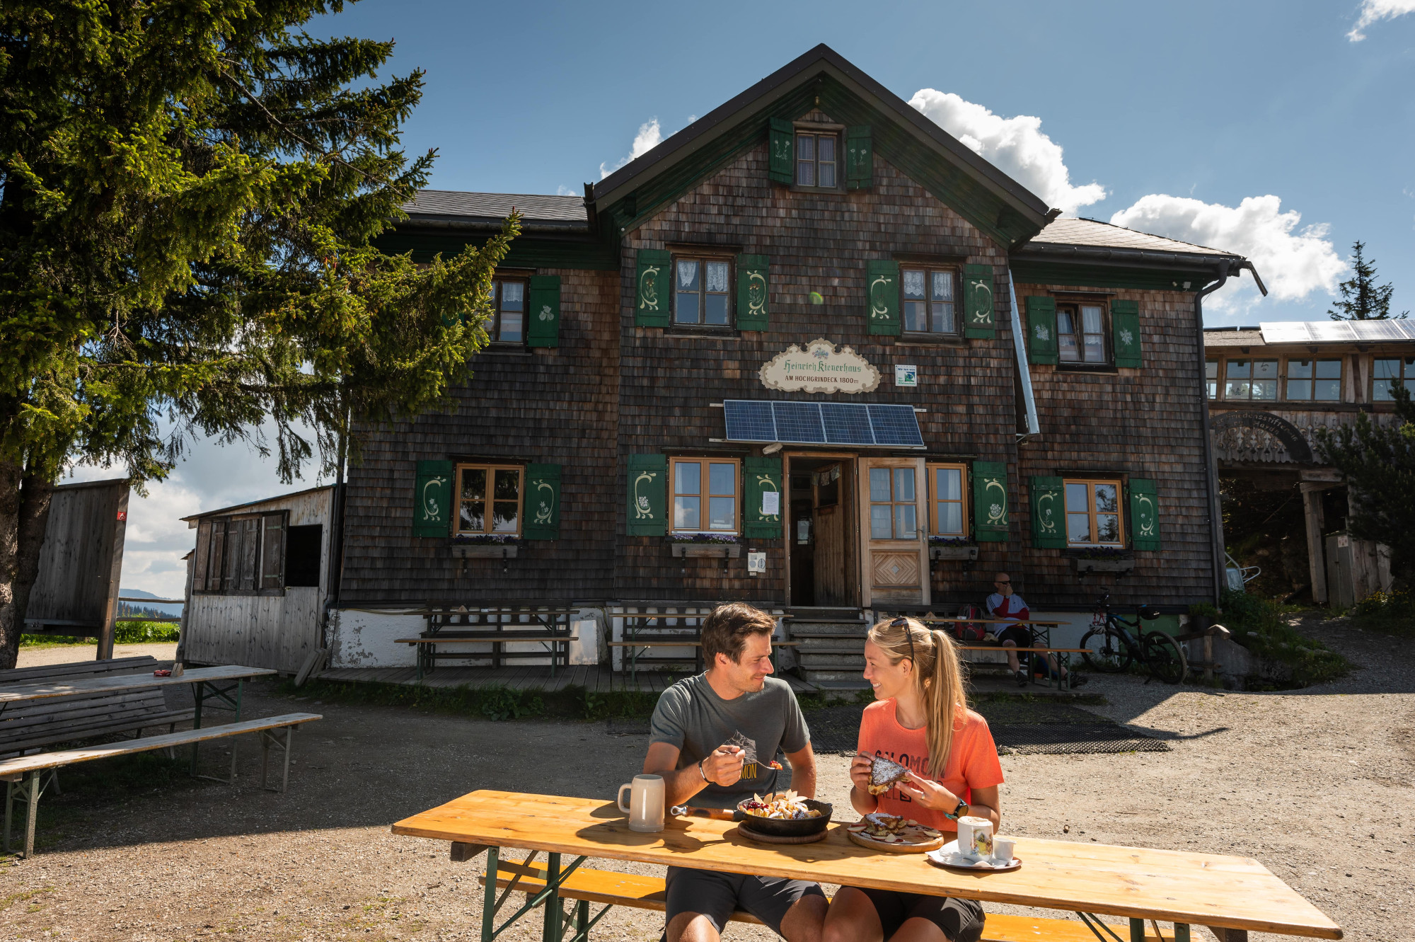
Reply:
<svg viewBox="0 0 1415 942"><path fill-rule="evenodd" d="M729 399L727 441L923 448L913 406Z"/></svg>

